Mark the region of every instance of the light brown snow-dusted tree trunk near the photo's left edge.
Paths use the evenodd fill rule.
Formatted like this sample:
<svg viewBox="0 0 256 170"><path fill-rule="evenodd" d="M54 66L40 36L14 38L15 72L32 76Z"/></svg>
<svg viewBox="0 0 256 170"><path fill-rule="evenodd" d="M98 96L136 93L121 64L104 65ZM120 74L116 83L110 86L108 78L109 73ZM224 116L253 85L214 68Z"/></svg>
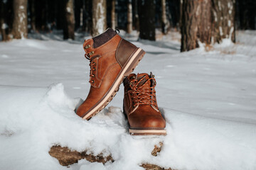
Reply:
<svg viewBox="0 0 256 170"><path fill-rule="evenodd" d="M14 23L12 35L16 39L28 38L28 0L14 0Z"/></svg>

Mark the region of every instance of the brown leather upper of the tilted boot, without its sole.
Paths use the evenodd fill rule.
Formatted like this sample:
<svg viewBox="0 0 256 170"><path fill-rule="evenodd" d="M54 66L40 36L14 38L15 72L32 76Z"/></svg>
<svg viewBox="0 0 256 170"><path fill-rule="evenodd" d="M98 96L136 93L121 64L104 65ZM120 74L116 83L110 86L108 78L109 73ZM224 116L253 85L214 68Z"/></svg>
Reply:
<svg viewBox="0 0 256 170"><path fill-rule="evenodd" d="M103 33L105 34L103 36L104 38L108 36L107 33L114 31L109 29ZM123 63L127 62L130 55L132 55L137 48L132 45L132 43L122 40L116 33L112 35L113 36L110 38L107 37L110 40L107 40L107 42L102 43L102 45L98 47L94 47L94 38L85 40L82 45L85 50L85 57L90 60L91 86L87 98L76 111L80 117L86 115L87 111L97 105L97 103L99 103L99 101L107 94L120 74ZM97 43L100 42L98 36ZM124 43L125 45L122 45ZM124 47L126 50L122 49Z"/></svg>

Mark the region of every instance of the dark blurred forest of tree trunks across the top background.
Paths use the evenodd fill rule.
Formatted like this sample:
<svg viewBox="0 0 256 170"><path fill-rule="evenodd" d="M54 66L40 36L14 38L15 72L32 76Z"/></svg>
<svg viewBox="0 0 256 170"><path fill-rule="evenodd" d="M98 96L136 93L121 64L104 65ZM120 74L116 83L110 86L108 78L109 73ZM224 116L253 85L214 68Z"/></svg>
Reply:
<svg viewBox="0 0 256 170"><path fill-rule="evenodd" d="M0 40L27 38L28 33L63 30L95 36L118 28L156 40L156 29L181 33L181 51L230 38L235 30L255 30L255 0L0 0Z"/></svg>

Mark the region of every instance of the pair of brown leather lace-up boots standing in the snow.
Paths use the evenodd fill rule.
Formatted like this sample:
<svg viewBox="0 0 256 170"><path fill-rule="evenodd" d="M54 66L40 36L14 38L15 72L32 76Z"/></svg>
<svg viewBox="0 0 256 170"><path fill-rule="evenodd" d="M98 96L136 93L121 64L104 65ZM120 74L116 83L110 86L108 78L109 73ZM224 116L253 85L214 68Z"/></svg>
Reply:
<svg viewBox="0 0 256 170"><path fill-rule="evenodd" d="M90 91L76 113L89 120L114 98L124 84L124 115L131 135L166 135L166 121L156 103L153 74L130 74L146 52L121 38L112 28L85 40L90 60Z"/></svg>

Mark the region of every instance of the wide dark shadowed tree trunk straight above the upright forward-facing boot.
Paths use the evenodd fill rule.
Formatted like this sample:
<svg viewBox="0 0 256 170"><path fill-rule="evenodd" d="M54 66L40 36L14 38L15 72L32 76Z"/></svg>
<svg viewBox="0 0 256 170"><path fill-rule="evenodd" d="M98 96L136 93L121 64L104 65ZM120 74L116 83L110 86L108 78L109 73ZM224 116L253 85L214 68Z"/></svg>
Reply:
<svg viewBox="0 0 256 170"><path fill-rule="evenodd" d="M139 0L139 38L156 40L154 0Z"/></svg>

